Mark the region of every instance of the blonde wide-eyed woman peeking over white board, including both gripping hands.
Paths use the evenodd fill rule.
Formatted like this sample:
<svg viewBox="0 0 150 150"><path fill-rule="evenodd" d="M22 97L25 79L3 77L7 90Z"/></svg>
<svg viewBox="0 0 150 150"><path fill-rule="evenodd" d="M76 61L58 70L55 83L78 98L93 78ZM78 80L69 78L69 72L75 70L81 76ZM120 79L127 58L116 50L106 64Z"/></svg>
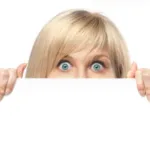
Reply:
<svg viewBox="0 0 150 150"><path fill-rule="evenodd" d="M1 99L11 93L25 68L26 64L1 69ZM130 64L125 41L107 17L69 10L55 16L39 33L26 78L135 78L141 96L150 100L149 72Z"/></svg>

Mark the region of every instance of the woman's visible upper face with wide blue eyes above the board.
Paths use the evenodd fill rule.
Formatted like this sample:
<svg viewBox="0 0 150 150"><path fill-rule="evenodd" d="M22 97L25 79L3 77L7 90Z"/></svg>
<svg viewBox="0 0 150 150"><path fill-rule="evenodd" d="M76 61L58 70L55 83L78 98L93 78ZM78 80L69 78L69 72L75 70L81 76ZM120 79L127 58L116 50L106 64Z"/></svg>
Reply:
<svg viewBox="0 0 150 150"><path fill-rule="evenodd" d="M115 78L107 52L81 51L63 58L48 78Z"/></svg>

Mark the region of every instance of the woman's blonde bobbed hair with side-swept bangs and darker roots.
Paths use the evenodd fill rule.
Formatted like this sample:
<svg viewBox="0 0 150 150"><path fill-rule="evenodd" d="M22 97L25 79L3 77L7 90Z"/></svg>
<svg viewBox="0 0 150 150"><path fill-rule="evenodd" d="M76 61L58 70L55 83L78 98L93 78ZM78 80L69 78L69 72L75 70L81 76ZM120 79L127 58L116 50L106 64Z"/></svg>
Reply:
<svg viewBox="0 0 150 150"><path fill-rule="evenodd" d="M39 33L30 55L26 78L47 78L64 56L81 50L107 50L116 78L125 78L130 60L117 27L102 14L69 10L50 20Z"/></svg>

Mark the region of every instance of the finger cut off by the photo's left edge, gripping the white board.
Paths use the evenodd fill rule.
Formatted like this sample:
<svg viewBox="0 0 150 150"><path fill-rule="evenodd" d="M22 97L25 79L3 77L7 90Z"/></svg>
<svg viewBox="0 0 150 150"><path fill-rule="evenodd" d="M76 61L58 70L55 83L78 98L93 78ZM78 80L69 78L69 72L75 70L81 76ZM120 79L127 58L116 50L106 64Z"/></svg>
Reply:
<svg viewBox="0 0 150 150"><path fill-rule="evenodd" d="M0 99L2 99L5 94L8 79L9 79L8 70L0 69Z"/></svg>

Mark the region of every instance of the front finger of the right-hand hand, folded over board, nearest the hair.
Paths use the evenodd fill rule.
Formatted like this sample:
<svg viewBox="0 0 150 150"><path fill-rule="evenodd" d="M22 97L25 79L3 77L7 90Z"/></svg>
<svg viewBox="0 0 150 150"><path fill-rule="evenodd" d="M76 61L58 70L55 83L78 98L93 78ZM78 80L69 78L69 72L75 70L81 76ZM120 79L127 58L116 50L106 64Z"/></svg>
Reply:
<svg viewBox="0 0 150 150"><path fill-rule="evenodd" d="M143 81L143 75L142 75L142 71L138 70L135 73L135 79L136 79L136 84L137 84L137 89L138 92L141 96L145 96L146 91L145 91L145 84Z"/></svg>

